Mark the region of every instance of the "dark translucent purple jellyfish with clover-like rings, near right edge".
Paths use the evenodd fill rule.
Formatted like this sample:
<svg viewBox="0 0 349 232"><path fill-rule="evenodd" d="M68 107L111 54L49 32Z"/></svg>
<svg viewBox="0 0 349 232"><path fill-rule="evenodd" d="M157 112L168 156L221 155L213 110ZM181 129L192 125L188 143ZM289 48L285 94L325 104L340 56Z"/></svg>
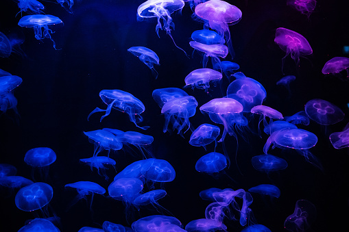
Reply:
<svg viewBox="0 0 349 232"><path fill-rule="evenodd" d="M333 125L344 119L344 112L339 107L322 99L310 100L304 108L309 118L320 125Z"/></svg>

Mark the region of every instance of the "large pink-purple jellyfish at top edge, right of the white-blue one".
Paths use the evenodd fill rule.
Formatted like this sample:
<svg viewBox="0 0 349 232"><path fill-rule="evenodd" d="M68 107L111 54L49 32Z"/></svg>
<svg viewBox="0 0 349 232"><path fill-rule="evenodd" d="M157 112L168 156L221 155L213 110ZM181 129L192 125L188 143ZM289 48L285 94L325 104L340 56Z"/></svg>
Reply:
<svg viewBox="0 0 349 232"><path fill-rule="evenodd" d="M210 0L195 7L195 16L205 22L205 27L217 31L226 39L230 55L234 57L229 26L239 23L242 17L241 10L226 1Z"/></svg>

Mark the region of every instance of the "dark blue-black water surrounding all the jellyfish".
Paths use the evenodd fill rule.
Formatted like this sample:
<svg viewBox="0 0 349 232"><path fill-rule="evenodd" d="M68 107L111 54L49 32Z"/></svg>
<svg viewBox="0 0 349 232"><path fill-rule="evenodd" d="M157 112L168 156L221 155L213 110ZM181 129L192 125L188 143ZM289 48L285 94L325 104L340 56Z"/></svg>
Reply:
<svg viewBox="0 0 349 232"><path fill-rule="evenodd" d="M349 45L348 3L346 1L317 1L313 14L308 19L300 12L286 5L285 1L231 1L243 12L237 25L230 27L232 44L236 53L233 62L240 65L246 76L261 82L267 90L267 99L263 105L278 109L284 116L290 116L304 109L304 104L311 99L324 99L340 107L346 117L340 123L323 127L314 121L307 127L319 139L311 152L320 159L323 172L305 162L296 151L270 151L287 160L286 170L265 173L254 170L251 158L263 153L267 136L259 138L246 131L239 136L237 164L234 163L236 142L227 136L226 148L233 160L226 170L236 183L222 175L214 179L195 170L195 162L206 154L201 147L193 147L188 141L190 131L184 138L176 133L163 133L164 118L160 108L152 99L152 91L157 88L184 86L184 77L192 70L202 68L198 53L191 55L189 47L191 33L202 29L202 23L193 21L188 5L182 14L173 14L176 29L173 39L190 56L177 49L171 38L160 31L156 35L156 20L137 21L136 10L143 1L81 1L73 5L73 14L69 14L60 5L43 1L46 14L58 16L64 26L52 27L56 41L53 49L50 40L36 40L32 29L20 28L17 23L20 15L16 3L4 0L0 7L0 31L8 34L21 31L25 37L22 49L25 55L12 54L9 58L0 58L0 68L23 78L21 86L14 95L18 99L19 123L14 112L9 110L0 118L0 163L16 166L17 175L31 179L31 168L23 161L25 153L34 147L47 146L57 154L57 161L49 169L49 183L53 187L51 213L61 218L61 231L77 231L81 227L100 227L109 220L128 225L125 220L125 207L120 201L106 196L95 196L93 214L85 201L80 201L69 211L67 205L75 192L64 190L64 185L76 181L93 181L108 188L111 181L99 177L95 170L79 162L79 159L91 157L93 144L88 142L83 131L93 131L104 127L123 131L139 131L154 136L152 151L158 159L166 159L176 170L176 179L165 183L167 196L159 201L169 209L182 224L204 218L204 211L209 204L202 201L199 192L206 188L232 188L248 190L261 183L271 183L280 188L281 196L274 200L252 194L254 202L250 206L256 221L272 231L285 231L285 218L293 213L296 201L306 199L317 209L317 218L309 231L335 231L346 228L349 194L348 188L348 149L336 150L330 144L331 132L341 131L348 123L349 81L342 81L321 73L324 64L335 56L348 56L343 53L344 45ZM287 57L285 73L296 75L291 83L291 95L276 81L283 77L281 59L285 55L274 43L275 31L285 27L302 34L311 44L313 54L307 59L300 58L300 67ZM127 49L144 46L156 51L160 57L160 66L156 67L158 79L154 79L147 66L142 64ZM230 58L229 56L227 57ZM210 67L210 62L208 63ZM346 73L344 73L346 75ZM195 96L200 105L210 99L221 97L221 90L226 91L228 81L222 86L212 88L210 94L203 90L186 92ZM104 108L99 99L99 91L119 89L134 94L143 101L145 112L143 123L149 125L142 131L130 122L126 114L112 110L110 116L99 123L99 116L94 115L88 122L88 114L95 107ZM190 118L193 127L202 123L211 123L197 108L195 116ZM250 123L256 128L256 121ZM223 127L221 127L223 129ZM213 146L208 146L208 151ZM222 152L221 144L217 151ZM106 155L106 154L104 154ZM141 155L130 155L123 151L110 153L117 160L117 172L128 164L141 159ZM115 171L107 171L112 179ZM31 212L21 211L14 204L14 194L0 198L0 231L17 231L25 220L34 218ZM145 207L134 212L135 218L158 214L152 207ZM224 222L228 231L241 231L238 221Z"/></svg>

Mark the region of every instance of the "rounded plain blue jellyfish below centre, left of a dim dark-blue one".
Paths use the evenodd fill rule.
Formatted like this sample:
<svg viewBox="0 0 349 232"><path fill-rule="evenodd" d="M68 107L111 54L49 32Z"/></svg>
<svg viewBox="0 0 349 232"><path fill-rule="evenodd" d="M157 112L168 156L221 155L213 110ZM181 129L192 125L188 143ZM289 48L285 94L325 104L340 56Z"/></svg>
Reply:
<svg viewBox="0 0 349 232"><path fill-rule="evenodd" d="M195 169L198 172L219 172L226 168L227 159L226 157L217 152L208 153L197 160Z"/></svg>

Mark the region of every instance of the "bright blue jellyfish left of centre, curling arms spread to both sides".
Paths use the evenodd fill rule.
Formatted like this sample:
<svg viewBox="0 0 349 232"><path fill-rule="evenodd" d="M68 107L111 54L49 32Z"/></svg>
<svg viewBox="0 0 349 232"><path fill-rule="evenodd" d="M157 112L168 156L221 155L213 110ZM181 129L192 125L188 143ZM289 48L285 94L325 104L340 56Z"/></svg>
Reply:
<svg viewBox="0 0 349 232"><path fill-rule="evenodd" d="M88 114L87 120L96 112L106 112L104 116L101 116L101 120L103 120L104 117L110 114L112 108L114 108L128 114L130 121L134 123L136 127L139 127L137 123L141 123L143 121L141 114L145 111L145 106L139 99L134 97L129 92L125 92L123 90L101 90L101 92L99 92L99 97L108 105L108 107L106 109L99 109L99 107L96 107L90 114ZM149 127L139 128L145 130Z"/></svg>

